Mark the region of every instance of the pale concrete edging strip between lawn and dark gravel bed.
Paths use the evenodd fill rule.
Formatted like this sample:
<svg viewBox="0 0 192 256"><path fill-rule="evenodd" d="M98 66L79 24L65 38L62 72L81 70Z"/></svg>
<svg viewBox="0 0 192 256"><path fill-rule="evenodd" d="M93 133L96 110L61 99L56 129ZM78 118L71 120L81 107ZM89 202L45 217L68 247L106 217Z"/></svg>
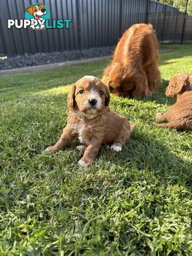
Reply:
<svg viewBox="0 0 192 256"><path fill-rule="evenodd" d="M43 70L49 70L49 69L55 69L55 68L63 68L63 67L95 62L95 61L108 60L110 58L112 58L112 55L98 57L98 58L84 59L84 60L72 60L72 61L66 61L66 62L51 63L51 64L33 66L33 67L27 67L27 68L7 69L7 70L0 71L0 76L16 75L16 74L31 73L35 71L43 71Z"/></svg>

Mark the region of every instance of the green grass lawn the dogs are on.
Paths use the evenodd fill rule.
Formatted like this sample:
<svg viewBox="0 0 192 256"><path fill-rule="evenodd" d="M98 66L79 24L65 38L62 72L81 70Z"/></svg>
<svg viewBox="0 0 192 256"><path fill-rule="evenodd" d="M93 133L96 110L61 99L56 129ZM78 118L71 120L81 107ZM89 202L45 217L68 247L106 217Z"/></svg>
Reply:
<svg viewBox="0 0 192 256"><path fill-rule="evenodd" d="M175 99L172 75L192 74L191 45L163 45L163 86L110 108L137 123L120 153L103 146L79 167L74 141L55 155L71 84L109 61L0 77L0 255L192 255L192 133L153 125Z"/></svg>

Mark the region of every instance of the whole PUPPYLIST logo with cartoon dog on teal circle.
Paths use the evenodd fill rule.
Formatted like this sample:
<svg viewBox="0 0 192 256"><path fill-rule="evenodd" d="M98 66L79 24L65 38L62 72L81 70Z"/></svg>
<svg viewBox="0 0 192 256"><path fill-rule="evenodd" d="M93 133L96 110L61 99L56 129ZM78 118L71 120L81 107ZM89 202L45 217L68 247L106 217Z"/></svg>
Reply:
<svg viewBox="0 0 192 256"><path fill-rule="evenodd" d="M25 20L8 20L8 28L68 29L71 19L51 20L50 11L44 4L32 4L25 12Z"/></svg>

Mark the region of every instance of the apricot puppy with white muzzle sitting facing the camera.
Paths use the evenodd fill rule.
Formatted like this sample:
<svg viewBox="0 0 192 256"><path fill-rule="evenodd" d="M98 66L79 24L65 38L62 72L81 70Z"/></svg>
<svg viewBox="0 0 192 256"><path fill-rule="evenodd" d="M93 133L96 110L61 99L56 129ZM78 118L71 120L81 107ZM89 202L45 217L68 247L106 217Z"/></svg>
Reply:
<svg viewBox="0 0 192 256"><path fill-rule="evenodd" d="M85 150L78 162L82 166L93 163L103 144L112 142L111 148L121 151L136 124L131 126L124 116L111 111L109 100L109 88L100 79L94 76L79 79L68 94L67 126L59 141L46 150L56 153L78 137L82 145L77 149Z"/></svg>

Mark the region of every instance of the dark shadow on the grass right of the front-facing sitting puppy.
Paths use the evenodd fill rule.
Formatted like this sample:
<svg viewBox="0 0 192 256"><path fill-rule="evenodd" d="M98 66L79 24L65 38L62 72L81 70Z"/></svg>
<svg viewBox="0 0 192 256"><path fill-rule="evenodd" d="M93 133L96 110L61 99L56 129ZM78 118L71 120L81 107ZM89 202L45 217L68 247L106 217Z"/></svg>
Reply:
<svg viewBox="0 0 192 256"><path fill-rule="evenodd" d="M158 128L157 128L158 129ZM190 182L190 170L192 164L190 161L178 156L169 148L169 139L165 139L165 130L162 134L158 132L159 138L153 135L147 135L145 132L135 129L131 140L123 147L119 153L114 153L108 146L104 147L97 158L105 159L116 165L116 168L122 167L127 172L138 172L138 177L145 170L151 175L155 175L163 182L178 183L185 181ZM183 132L188 133L188 132ZM162 135L161 135L162 134ZM161 137L160 137L161 136ZM165 143L163 142L165 139ZM179 146L182 151L190 151L190 146L187 143L181 143ZM104 154L104 156L103 156ZM133 174L135 178L135 173ZM130 177L131 178L131 177Z"/></svg>

